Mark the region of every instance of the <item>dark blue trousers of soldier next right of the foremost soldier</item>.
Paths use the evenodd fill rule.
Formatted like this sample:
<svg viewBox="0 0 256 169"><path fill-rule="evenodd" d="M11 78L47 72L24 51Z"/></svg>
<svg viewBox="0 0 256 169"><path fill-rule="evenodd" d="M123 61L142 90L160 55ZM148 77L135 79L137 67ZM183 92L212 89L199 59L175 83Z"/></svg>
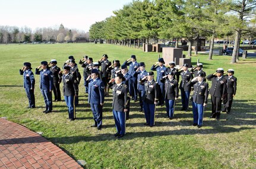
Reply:
<svg viewBox="0 0 256 169"><path fill-rule="evenodd" d="M150 126L153 126L154 125L154 111L155 111L156 105L143 102L143 106L144 106L146 123L149 124Z"/></svg>

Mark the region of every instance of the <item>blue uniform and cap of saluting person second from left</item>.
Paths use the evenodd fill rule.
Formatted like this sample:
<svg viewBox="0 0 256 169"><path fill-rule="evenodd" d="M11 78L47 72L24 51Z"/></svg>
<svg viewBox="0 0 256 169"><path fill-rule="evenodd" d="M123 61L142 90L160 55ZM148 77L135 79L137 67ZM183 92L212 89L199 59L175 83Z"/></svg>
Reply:
<svg viewBox="0 0 256 169"><path fill-rule="evenodd" d="M47 61L42 61L41 64L48 65ZM50 113L52 112L52 92L50 92L53 89L52 71L36 69L36 74L40 74L40 89L46 105L44 113Z"/></svg>

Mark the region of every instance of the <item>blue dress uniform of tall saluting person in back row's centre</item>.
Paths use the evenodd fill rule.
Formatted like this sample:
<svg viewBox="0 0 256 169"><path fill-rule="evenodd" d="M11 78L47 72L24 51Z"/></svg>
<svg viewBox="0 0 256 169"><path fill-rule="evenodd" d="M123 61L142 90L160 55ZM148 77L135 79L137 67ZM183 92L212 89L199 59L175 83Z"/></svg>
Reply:
<svg viewBox="0 0 256 169"><path fill-rule="evenodd" d="M132 55L131 58L136 59L135 55ZM129 86L129 94L132 98L132 100L137 100L138 99L138 89L137 89L137 78L138 78L138 74L136 73L136 70L138 69L138 67L140 67L140 65L137 63L137 61L125 61L123 65L127 65L129 66L129 71L128 73L131 75L132 80L131 80L131 85Z"/></svg>

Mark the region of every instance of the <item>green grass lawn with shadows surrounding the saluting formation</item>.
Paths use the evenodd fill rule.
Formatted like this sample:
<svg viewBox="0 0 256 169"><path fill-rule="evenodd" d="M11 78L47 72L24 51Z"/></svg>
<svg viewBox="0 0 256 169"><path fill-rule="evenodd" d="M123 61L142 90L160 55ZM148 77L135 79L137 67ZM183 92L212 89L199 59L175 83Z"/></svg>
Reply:
<svg viewBox="0 0 256 169"><path fill-rule="evenodd" d="M135 54L137 61L144 61L146 69L150 70L162 53L143 53L135 48L109 44L15 44L0 45L0 51L0 117L5 116L33 131L43 132L43 137L75 160L85 160L85 168L255 168L255 57L241 58L237 64L230 64L230 56L213 56L211 61L203 54L192 57L193 65L200 59L207 74L214 73L217 67L235 70L238 89L232 113L222 113L220 121L208 118L211 114L210 96L200 129L191 126L191 111L178 111L181 98L172 121L165 117L164 107L156 108L156 126L153 128L143 126L145 119L144 114L138 112L139 103L131 102L127 134L116 139L113 137L116 129L111 97L106 98L103 128L98 131L90 127L94 122L83 80L80 83L80 105L76 109L77 120L69 122L64 101L53 102L53 113L42 113L45 108L38 75L35 75L36 109L26 109L27 98L19 69L29 61L34 72L40 61L52 58L62 67L68 56L73 55L78 61L85 54L94 61L102 54L108 54L110 61L118 59L123 63ZM83 69L80 71L82 73Z"/></svg>

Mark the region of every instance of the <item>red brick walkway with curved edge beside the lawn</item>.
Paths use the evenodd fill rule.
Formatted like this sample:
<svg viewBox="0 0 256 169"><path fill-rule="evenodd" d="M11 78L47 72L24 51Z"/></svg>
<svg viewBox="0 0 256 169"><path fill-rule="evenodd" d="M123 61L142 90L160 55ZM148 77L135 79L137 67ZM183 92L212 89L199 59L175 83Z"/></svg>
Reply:
<svg viewBox="0 0 256 169"><path fill-rule="evenodd" d="M0 168L82 167L36 132L0 118Z"/></svg>

